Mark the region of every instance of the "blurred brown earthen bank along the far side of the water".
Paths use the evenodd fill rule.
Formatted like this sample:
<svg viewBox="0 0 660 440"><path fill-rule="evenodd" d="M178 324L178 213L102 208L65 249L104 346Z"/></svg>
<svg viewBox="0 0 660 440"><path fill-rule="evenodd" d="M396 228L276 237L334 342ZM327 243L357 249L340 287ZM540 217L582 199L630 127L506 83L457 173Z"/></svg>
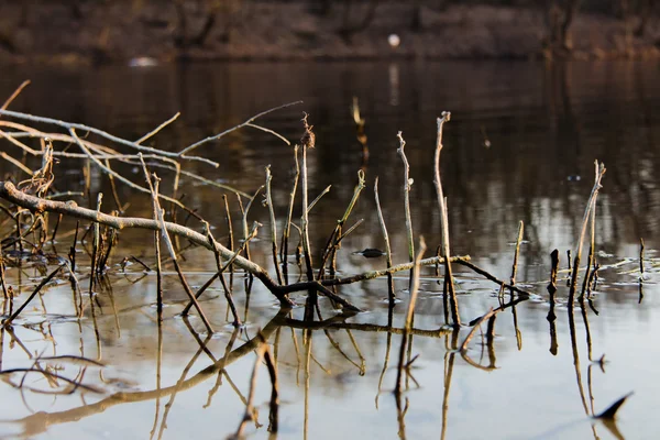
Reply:
<svg viewBox="0 0 660 440"><path fill-rule="evenodd" d="M25 4L30 4L25 7ZM530 58L547 50L544 9L493 6L421 7L382 2L326 13L306 2L0 3L0 62L96 63L150 57L193 59ZM75 3L77 4L77 3ZM373 12L373 15L372 15ZM400 37L393 48L388 35ZM644 36L623 20L579 13L571 28L576 58L657 57L660 26Z"/></svg>

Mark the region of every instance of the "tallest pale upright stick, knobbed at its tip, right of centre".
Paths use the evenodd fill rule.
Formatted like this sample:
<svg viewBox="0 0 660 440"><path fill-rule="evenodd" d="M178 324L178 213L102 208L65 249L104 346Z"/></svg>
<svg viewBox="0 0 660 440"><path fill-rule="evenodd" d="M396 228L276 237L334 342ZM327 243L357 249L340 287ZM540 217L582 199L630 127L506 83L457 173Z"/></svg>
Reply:
<svg viewBox="0 0 660 440"><path fill-rule="evenodd" d="M442 180L440 179L440 153L442 151L442 128L444 122L451 118L449 111L442 112L442 118L438 118L438 139L436 142L436 170L433 183L436 184L436 193L438 194L438 206L440 208L440 222L442 226L442 256L444 256L444 285L449 290L449 304L451 308L451 318L454 326L461 324L461 316L459 314L459 300L453 284L453 275L451 272L451 263L449 261L449 218L447 213L447 200L442 191Z"/></svg>

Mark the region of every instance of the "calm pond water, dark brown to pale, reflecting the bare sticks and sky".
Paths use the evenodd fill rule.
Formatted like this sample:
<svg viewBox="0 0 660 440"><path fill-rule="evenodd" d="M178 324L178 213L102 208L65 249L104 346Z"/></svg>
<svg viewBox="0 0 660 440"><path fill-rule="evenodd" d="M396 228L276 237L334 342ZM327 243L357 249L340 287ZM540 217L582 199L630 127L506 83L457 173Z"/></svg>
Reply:
<svg viewBox="0 0 660 440"><path fill-rule="evenodd" d="M352 254L384 245L373 197L376 176L395 263L408 258L403 167L396 152L399 130L407 142L414 178L415 233L424 234L432 249L429 253L435 252L440 240L432 184L436 118L450 110L442 175L452 253L470 254L474 263L508 279L512 243L522 220L525 242L517 280L535 295L498 315L492 343L477 332L468 359L453 349L468 336L469 327L453 334L416 332L410 355L420 356L411 369L414 378L405 382L403 405L407 410L399 417L391 392L400 336L370 326L385 330L388 324L383 279L342 287L340 294L366 311L341 321L348 324L334 322L326 332L309 331L310 342L305 342L299 322L302 309L294 309L296 322L286 321L278 315L274 297L258 282L248 301L243 275L237 274L234 295L246 324L230 342L233 328L226 319L221 287L215 285L204 307L217 332L201 351L199 343L204 344L208 334L198 318L187 322L178 316L185 293L169 267L165 321L158 331L156 277L144 275L139 265L129 266L125 274L118 266L127 255L153 264L153 235L125 231L111 261L111 290L97 288L101 308L96 309L96 323L89 307L84 318L76 318L72 290L63 277L14 321L13 333L2 332L3 371L31 367L36 356L84 355L107 365L87 366L81 381L101 393L78 388L68 395L43 394L61 391L63 384L56 387L38 374L28 375L22 391L6 383L4 397L0 398L0 433L7 438L224 438L235 431L242 418L255 359L252 345L239 348L264 329L279 371L278 438L656 438L660 431L654 407L660 393L654 374L660 361L654 337L660 331L654 260L660 244L660 189L654 169L660 162L660 117L653 109L660 108L659 68L657 63L624 62L566 66L358 63L3 68L0 96L8 96L23 79L33 81L12 105L13 110L84 122L127 139L139 139L182 111L180 119L154 141L156 146L173 151L262 110L304 100L260 121L297 141L301 111L310 114L317 132L317 148L310 152L311 197L332 184L311 212L311 242L317 250L342 216L356 184L356 172L364 167L367 188L349 220L364 219L364 223L346 238L339 253L342 275L385 265L380 258ZM350 113L354 96L366 120L370 157L365 163ZM18 156L6 141L0 148ZM284 218L293 153L282 141L246 128L197 153L218 161L220 167L186 163L186 169L248 193L264 183L264 167L271 164L276 212L278 219ZM561 267L565 268L565 251L575 245L596 158L607 167L596 211L598 262L603 267L593 297L598 314L592 308L582 312L576 306L571 324L566 273L560 273L553 346L552 326L546 319L550 310L544 288L549 254L559 249ZM61 163L57 189L79 190L79 169L80 163L75 161ZM117 165L116 169L142 182L131 165ZM0 162L3 176L14 170ZM168 175L160 173L166 188ZM95 194L106 194L107 211L114 208L109 183L100 173L92 173L91 187ZM151 217L148 198L125 187L119 189L121 200L131 202L128 215ZM183 193L185 202L213 224L216 237L226 237L221 191L187 179ZM87 205L86 200L79 202ZM238 204L234 198L230 202L234 227L240 228ZM274 273L268 257L268 217L261 204L250 211L252 220L264 223L262 240L253 243L253 258ZM61 226L56 250L62 255L72 242L65 234L74 226L72 221ZM9 230L6 223L2 237ZM640 238L645 239L647 256L641 299L636 260ZM87 285L84 274L89 261L85 253L79 255L79 275ZM212 255L189 249L184 256L182 265L190 284L202 285L215 271ZM10 264L8 284L21 292L16 304L41 279L41 266L38 262L24 263L21 268ZM497 285L464 267L454 271L464 322L499 306ZM402 302L395 308L393 326L398 329L408 298L406 276L402 273L396 282ZM305 298L294 294L293 299L302 304ZM336 315L327 299L320 304L323 318ZM422 273L415 328L438 330L444 323L442 286L428 268ZM229 355L226 374L218 382L218 371L209 366L226 355L228 344L238 351ZM596 362L603 354L607 361L604 371ZM69 378L81 371L80 365L62 360L38 364L63 367L57 373ZM16 385L22 375L2 378ZM618 433L590 419L630 391L635 395L619 413ZM264 369L254 399L263 426L249 425L246 432L253 438L268 437L268 397Z"/></svg>

